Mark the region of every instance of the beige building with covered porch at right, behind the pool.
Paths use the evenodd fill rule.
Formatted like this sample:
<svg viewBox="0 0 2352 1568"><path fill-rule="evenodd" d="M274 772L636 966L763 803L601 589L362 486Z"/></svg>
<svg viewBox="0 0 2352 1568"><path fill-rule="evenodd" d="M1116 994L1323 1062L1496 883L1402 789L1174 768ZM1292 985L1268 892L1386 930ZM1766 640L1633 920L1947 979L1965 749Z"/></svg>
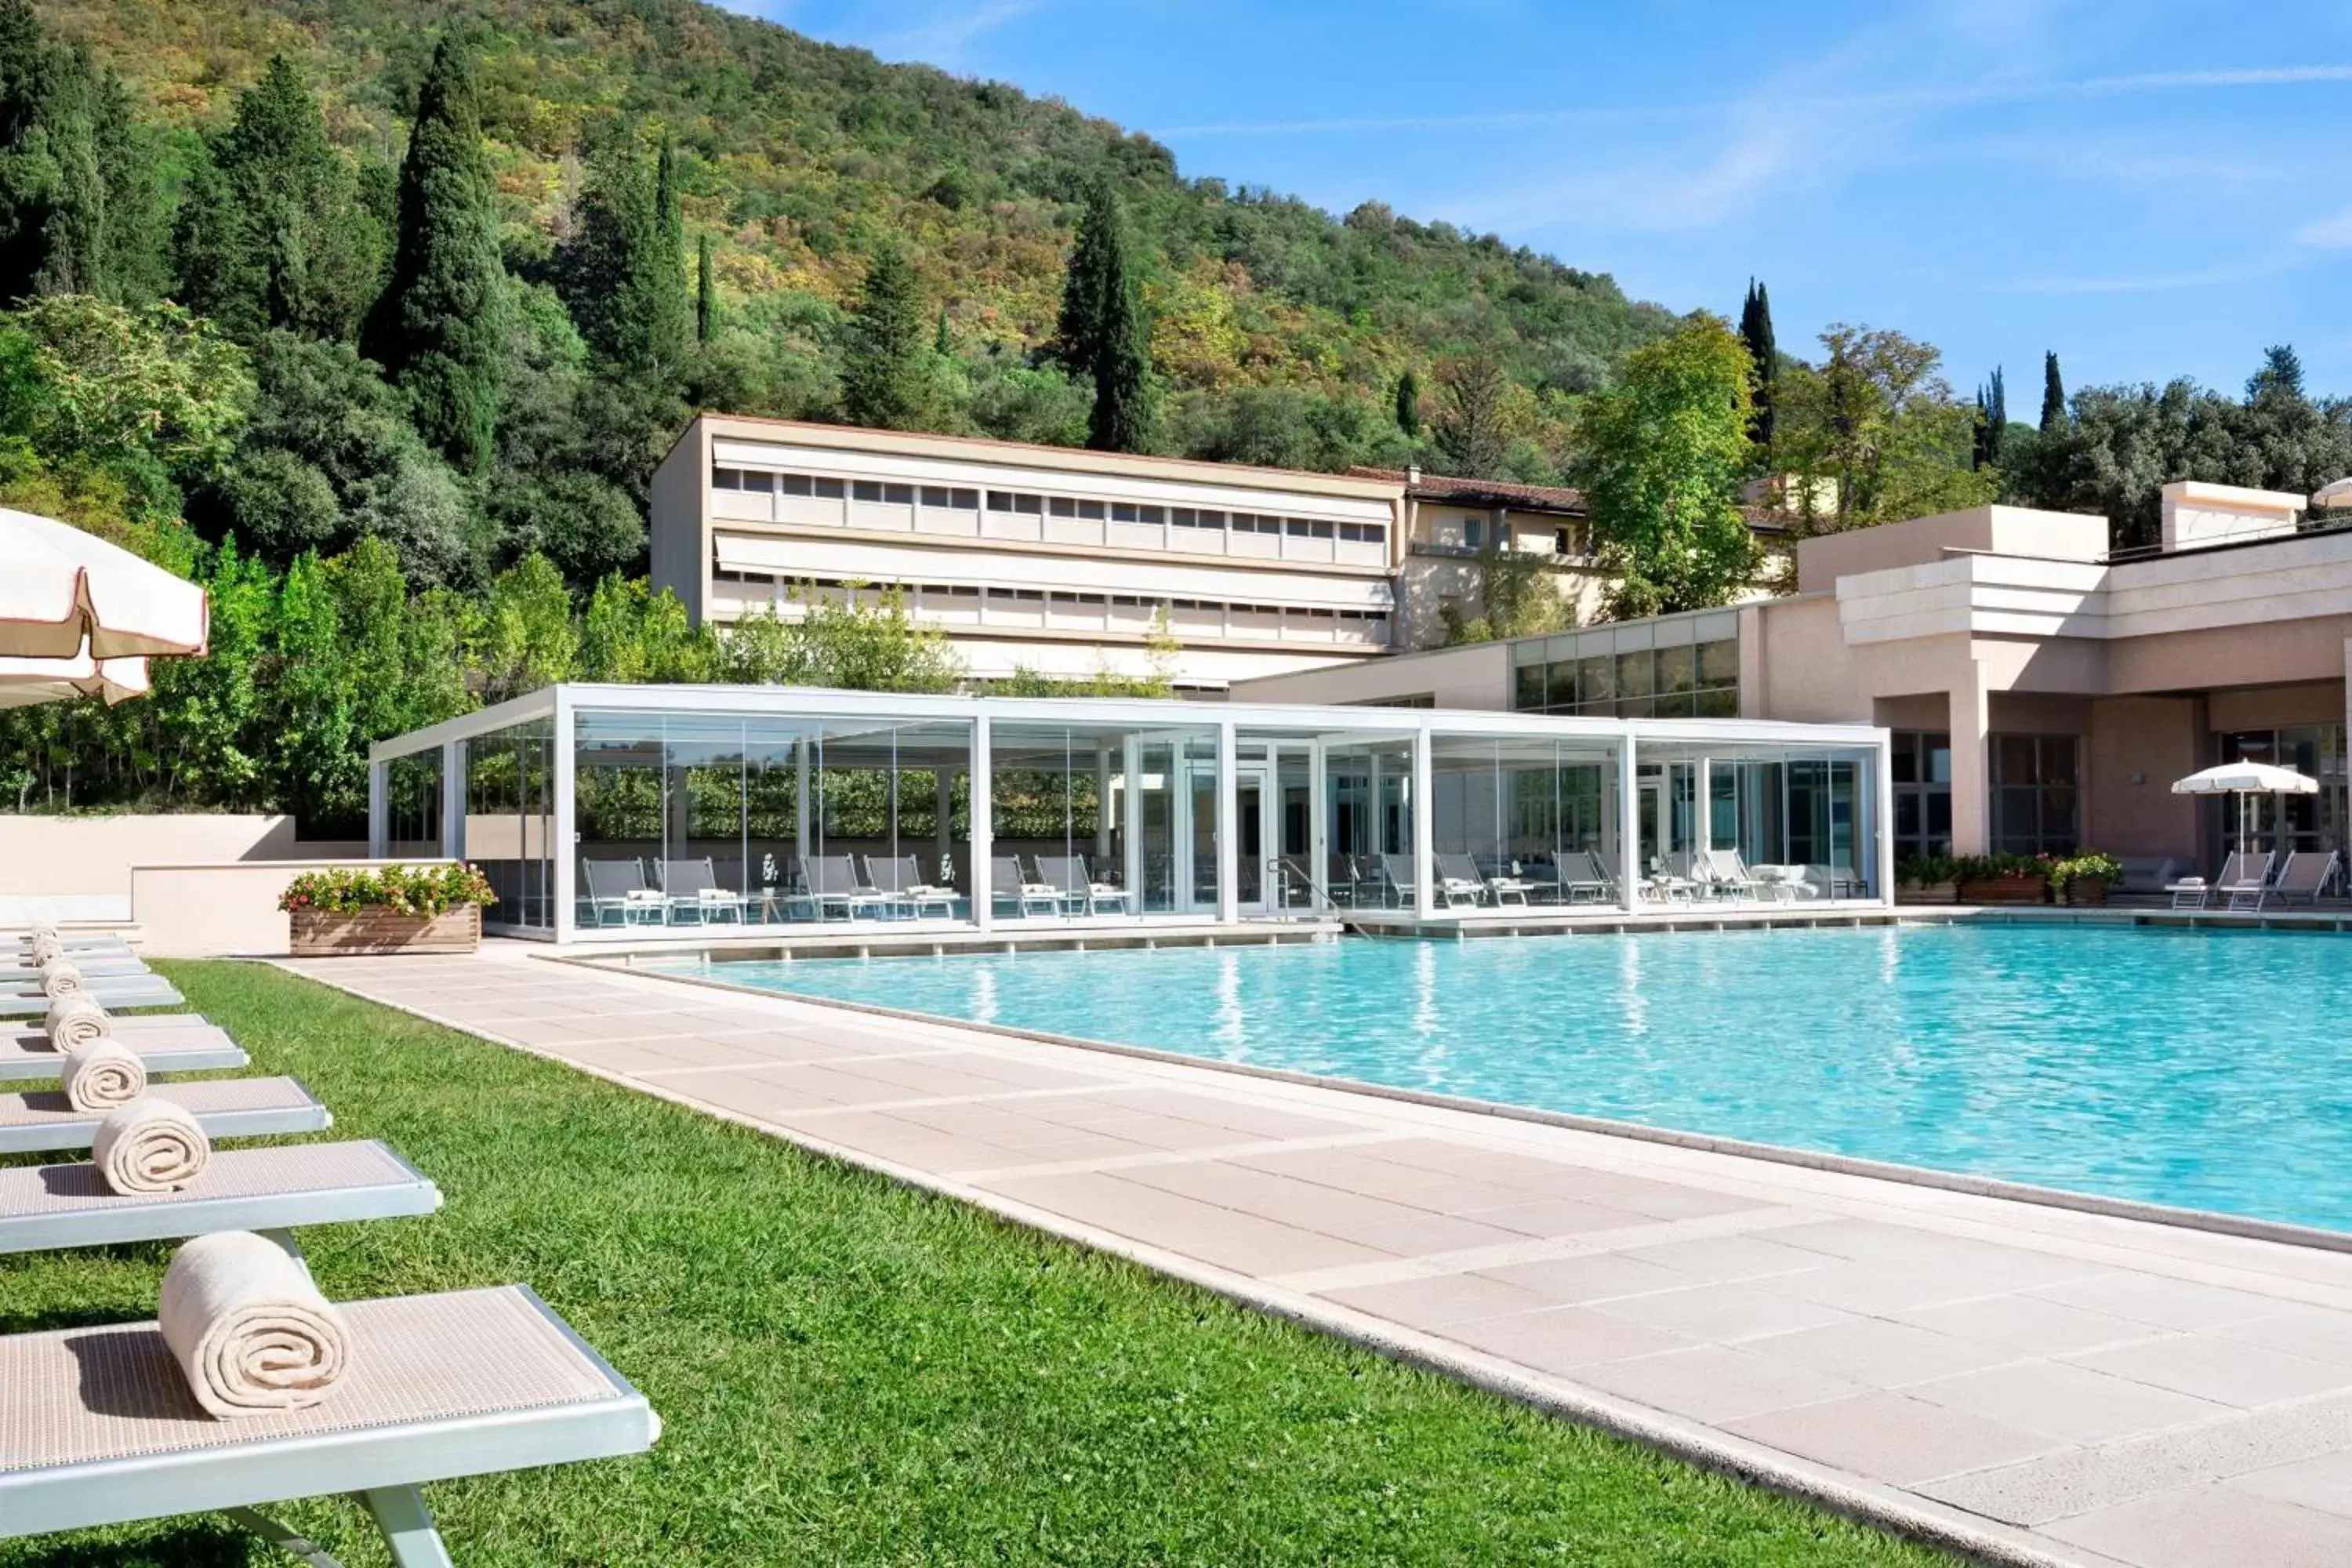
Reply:
<svg viewBox="0 0 2352 1568"><path fill-rule="evenodd" d="M2103 517L1917 517L1802 541L1785 597L1237 696L1882 724L1905 853L2096 846L2211 870L2237 820L2171 783L2260 759L2321 790L2256 799L2256 846L2345 849L2352 531L2303 529L2300 505L2171 484L2164 545L2138 555L2107 550Z"/></svg>

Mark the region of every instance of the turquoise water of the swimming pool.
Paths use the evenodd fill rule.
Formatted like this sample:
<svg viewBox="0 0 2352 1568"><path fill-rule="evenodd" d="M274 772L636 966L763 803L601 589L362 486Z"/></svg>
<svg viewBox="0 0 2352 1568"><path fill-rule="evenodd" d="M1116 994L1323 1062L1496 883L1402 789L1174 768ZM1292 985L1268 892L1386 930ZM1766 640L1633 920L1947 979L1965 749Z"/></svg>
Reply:
<svg viewBox="0 0 2352 1568"><path fill-rule="evenodd" d="M713 973L2352 1229L2352 938L2338 936L1903 926Z"/></svg>

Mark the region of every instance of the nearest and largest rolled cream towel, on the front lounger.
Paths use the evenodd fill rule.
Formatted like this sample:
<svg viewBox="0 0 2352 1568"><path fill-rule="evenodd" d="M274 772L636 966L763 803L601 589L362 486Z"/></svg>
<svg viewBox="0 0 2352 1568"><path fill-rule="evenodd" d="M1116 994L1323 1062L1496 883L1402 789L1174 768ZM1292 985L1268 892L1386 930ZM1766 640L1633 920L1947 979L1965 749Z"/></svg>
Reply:
<svg viewBox="0 0 2352 1568"><path fill-rule="evenodd" d="M249 1229L179 1248L155 1316L195 1403L221 1420L303 1410L350 1371L350 1331L334 1302Z"/></svg>

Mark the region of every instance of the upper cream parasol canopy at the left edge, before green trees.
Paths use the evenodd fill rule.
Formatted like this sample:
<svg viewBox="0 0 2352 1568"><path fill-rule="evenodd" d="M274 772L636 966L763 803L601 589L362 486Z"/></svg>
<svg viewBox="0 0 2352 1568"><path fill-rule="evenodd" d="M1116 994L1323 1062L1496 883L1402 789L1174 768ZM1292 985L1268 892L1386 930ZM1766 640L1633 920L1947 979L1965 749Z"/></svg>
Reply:
<svg viewBox="0 0 2352 1568"><path fill-rule="evenodd" d="M120 545L0 508L0 658L205 651L205 590Z"/></svg>

